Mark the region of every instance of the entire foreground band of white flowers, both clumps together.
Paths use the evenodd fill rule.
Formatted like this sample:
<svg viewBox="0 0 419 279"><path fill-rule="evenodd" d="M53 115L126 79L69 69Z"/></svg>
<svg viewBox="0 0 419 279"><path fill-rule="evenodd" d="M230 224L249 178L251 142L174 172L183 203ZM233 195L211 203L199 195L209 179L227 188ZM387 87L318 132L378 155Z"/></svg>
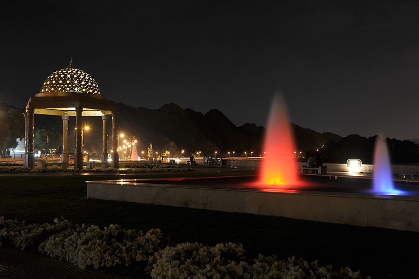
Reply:
<svg viewBox="0 0 419 279"><path fill-rule="evenodd" d="M36 249L80 268L136 265L151 278L364 278L349 267L336 271L330 265L295 257L286 261L274 255L247 257L241 244L167 246L167 238L158 229L144 234L118 225L101 229L57 218L51 225L26 224L0 216L0 245L4 244Z"/></svg>

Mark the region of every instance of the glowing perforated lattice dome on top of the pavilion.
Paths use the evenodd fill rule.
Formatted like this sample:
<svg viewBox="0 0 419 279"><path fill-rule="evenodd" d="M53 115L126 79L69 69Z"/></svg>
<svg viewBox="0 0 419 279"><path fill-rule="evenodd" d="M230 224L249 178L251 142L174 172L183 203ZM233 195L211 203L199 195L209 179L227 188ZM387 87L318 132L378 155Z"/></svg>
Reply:
<svg viewBox="0 0 419 279"><path fill-rule="evenodd" d="M101 95L99 86L90 74L72 67L64 68L50 74L45 79L40 93L79 93Z"/></svg>

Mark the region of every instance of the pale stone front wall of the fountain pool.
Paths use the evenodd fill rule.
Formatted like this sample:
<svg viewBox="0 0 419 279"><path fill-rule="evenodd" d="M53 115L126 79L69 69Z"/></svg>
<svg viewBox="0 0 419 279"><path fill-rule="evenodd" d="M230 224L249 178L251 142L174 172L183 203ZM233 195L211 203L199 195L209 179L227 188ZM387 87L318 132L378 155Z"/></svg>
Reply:
<svg viewBox="0 0 419 279"><path fill-rule="evenodd" d="M419 232L419 200L410 197L263 192L126 182L89 182L87 197Z"/></svg>

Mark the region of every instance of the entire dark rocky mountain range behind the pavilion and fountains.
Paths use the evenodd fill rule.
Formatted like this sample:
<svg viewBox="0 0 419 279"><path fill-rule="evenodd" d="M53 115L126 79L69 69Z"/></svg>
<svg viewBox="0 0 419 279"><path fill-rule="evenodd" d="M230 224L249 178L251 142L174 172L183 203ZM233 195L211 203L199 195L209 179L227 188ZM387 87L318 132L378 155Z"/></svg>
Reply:
<svg viewBox="0 0 419 279"><path fill-rule="evenodd" d="M213 154L215 150L226 153L235 151L236 156L253 155L263 152L263 137L265 128L246 123L236 126L220 110L212 109L203 114L191 108L183 109L176 104L165 104L158 109L131 107L124 103L117 103L119 130L134 135L138 141L138 152L147 152L150 143L158 152L169 151L171 154L185 150L185 155L202 151L203 154ZM0 103L0 111L10 108ZM92 127L85 135L85 148L93 153L101 153L102 135L93 132L102 131L102 121L99 117L86 117L85 120ZM70 117L69 127L74 126L74 117ZM35 125L39 129L48 129L61 133L62 121L60 117L36 115ZM111 122L108 121L108 131ZM296 141L296 151L314 151L319 149L325 162L345 163L348 158L361 158L364 163L372 162L375 137L359 135L340 135L292 124ZM71 131L71 129L69 130ZM74 146L74 134L69 133L69 149ZM419 162L419 146L410 141L388 139L393 163ZM324 146L324 148L322 148Z"/></svg>

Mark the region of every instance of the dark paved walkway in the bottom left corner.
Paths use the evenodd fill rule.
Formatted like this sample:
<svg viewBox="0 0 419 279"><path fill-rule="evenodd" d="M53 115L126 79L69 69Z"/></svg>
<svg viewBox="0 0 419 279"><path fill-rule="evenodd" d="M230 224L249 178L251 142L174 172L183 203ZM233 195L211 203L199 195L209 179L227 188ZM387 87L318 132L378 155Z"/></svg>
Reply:
<svg viewBox="0 0 419 279"><path fill-rule="evenodd" d="M96 270L82 270L77 266L34 252L0 247L0 278L74 278L74 279L122 279L124 277Z"/></svg>

